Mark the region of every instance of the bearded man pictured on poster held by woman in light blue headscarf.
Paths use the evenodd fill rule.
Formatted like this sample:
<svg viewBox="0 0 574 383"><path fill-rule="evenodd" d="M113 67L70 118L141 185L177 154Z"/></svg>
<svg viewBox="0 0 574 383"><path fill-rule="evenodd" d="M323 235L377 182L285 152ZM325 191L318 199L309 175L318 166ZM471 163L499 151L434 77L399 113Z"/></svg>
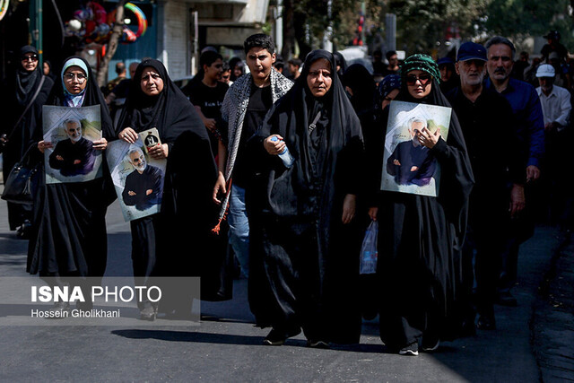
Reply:
<svg viewBox="0 0 574 383"><path fill-rule="evenodd" d="M93 170L96 161L93 144L83 138L80 120L66 119L64 128L68 138L56 144L54 152L49 157L50 167L60 170L65 177L88 174Z"/></svg>

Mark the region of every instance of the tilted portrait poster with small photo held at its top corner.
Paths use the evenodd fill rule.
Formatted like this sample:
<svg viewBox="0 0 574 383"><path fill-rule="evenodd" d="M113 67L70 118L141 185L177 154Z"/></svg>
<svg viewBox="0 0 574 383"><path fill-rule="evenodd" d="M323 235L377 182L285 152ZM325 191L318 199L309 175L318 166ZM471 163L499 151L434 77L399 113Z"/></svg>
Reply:
<svg viewBox="0 0 574 383"><path fill-rule="evenodd" d="M147 145L144 143L146 138ZM108 144L106 158L117 199L126 222L159 213L167 160L154 160L147 147L161 144L156 128L139 134L135 144L123 140ZM153 142L153 144L152 144Z"/></svg>

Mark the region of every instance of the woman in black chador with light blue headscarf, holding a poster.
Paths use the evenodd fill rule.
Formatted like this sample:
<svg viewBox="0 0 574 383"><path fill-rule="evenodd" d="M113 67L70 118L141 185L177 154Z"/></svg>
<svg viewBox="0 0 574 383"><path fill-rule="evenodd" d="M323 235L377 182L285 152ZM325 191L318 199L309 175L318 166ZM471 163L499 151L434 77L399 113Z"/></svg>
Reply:
<svg viewBox="0 0 574 383"><path fill-rule="evenodd" d="M100 105L103 138L92 143L93 149L101 154L108 145L107 140L113 137L108 107L90 65L83 58L65 60L60 81L54 85L47 105L72 108ZM42 140L41 125L36 127L34 136L39 141L39 152L53 147ZM41 155L41 161L43 158ZM104 176L87 182L47 185L42 171L28 247L30 274L103 276L108 251L105 216L115 197L105 163L102 163ZM56 309L67 307L60 304Z"/></svg>

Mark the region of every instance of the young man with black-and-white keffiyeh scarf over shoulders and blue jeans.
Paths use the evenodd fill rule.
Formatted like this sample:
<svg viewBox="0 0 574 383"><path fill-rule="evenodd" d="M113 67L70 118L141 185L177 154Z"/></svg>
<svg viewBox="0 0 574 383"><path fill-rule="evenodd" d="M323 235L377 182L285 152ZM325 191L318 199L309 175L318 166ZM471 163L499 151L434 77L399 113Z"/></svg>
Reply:
<svg viewBox="0 0 574 383"><path fill-rule="evenodd" d="M220 153L220 176L213 188L213 200L222 204L219 216L220 223L225 216L227 206L230 207L228 221L230 224L230 245L239 259L243 274L248 276L249 227L245 209L245 189L237 184L231 186L231 178L238 162L238 152L239 161L243 155L239 148L249 138L243 137L242 140L241 135L245 130L244 121L248 112L252 110L251 107L255 103L258 104L255 107L256 114L259 113L261 122L263 122L265 114L261 116L261 106L265 104L265 107L268 106L268 109L271 109L273 103L291 89L292 83L283 74L272 68L275 54L274 42L271 37L265 34L252 35L245 40L244 48L250 73L239 77L231 85L223 100L222 119L228 123L229 142L227 152ZM269 97L269 90L271 100L266 100ZM251 100L252 97L254 100ZM255 102L250 105L250 101ZM253 120L248 118L246 123L253 124ZM259 126L248 127L254 133L253 131L257 130ZM218 199L220 193L225 194L222 201ZM219 231L219 223L213 231Z"/></svg>

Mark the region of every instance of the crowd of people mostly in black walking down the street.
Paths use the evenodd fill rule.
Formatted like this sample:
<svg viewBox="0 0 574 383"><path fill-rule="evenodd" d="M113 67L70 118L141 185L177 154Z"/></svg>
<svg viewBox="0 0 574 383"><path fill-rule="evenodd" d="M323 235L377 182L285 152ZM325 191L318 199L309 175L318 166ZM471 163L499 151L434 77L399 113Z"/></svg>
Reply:
<svg viewBox="0 0 574 383"><path fill-rule="evenodd" d="M49 63L42 74L38 51L27 46L0 103L4 179L30 146L40 162L53 149L43 138L43 105L100 106L95 152L115 140L135 144L155 127L161 144L149 156L167 168L164 185L150 187L160 213L130 222L138 284L200 276L202 299L226 300L235 257L256 325L271 327L264 344L301 331L310 347L358 343L361 319L378 314L389 350L432 352L477 328L494 330L495 304L517 305L518 250L535 219L572 223L570 181L560 170L571 162L573 66L558 32L546 37L532 63L524 52L515 62L514 44L496 36L437 61L414 54L399 63L389 51L383 62L377 51L370 73L321 49L284 65L273 39L256 34L245 40L245 60L227 63L205 48L183 89L152 58L129 65L129 78L119 63L117 78L100 89L90 65L69 57L52 81ZM384 161L394 100L451 109L448 135L413 118L407 140ZM66 126L73 145L79 126ZM431 161L401 163L401 151ZM142 174L143 152L129 159ZM399 184L424 186L437 169L437 196L381 190L384 170ZM56 281L103 277L105 215L116 198L108 165L88 182L44 177L32 206L8 203L11 230L29 239L27 271ZM360 274L370 222L378 222L374 278ZM370 288L361 288L368 277ZM154 320L185 315L191 302L138 307Z"/></svg>

